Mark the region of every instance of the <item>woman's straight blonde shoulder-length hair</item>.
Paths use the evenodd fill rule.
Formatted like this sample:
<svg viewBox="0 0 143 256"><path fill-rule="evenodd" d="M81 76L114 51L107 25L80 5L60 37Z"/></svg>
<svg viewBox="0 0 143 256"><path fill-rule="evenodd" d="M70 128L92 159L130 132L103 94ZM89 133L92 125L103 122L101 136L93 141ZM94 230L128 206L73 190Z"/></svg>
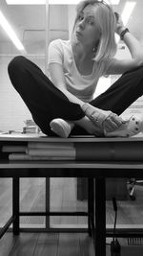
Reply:
<svg viewBox="0 0 143 256"><path fill-rule="evenodd" d="M97 0L81 1L76 6L76 17L73 30L78 20L79 13L82 12L88 5L95 7L95 22L98 25L99 31L101 33L101 37L97 45L97 51L93 59L95 61L100 61L112 58L116 53L116 43L114 38L116 20L110 5L104 3L103 1Z"/></svg>

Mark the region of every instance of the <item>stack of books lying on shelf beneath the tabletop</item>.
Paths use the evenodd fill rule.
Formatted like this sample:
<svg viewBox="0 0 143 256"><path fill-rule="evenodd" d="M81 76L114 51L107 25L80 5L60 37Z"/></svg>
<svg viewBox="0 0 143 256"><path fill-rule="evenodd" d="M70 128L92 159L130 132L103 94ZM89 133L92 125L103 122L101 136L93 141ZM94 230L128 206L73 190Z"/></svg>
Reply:
<svg viewBox="0 0 143 256"><path fill-rule="evenodd" d="M29 142L27 146L4 145L9 160L75 160L73 143Z"/></svg>

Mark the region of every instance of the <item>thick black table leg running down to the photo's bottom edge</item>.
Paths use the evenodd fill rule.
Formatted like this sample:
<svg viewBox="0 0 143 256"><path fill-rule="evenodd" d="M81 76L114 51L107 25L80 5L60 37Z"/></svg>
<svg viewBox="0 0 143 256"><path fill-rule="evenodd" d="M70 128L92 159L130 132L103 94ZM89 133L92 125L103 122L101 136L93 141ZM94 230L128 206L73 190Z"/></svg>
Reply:
<svg viewBox="0 0 143 256"><path fill-rule="evenodd" d="M95 178L95 255L106 255L106 179Z"/></svg>

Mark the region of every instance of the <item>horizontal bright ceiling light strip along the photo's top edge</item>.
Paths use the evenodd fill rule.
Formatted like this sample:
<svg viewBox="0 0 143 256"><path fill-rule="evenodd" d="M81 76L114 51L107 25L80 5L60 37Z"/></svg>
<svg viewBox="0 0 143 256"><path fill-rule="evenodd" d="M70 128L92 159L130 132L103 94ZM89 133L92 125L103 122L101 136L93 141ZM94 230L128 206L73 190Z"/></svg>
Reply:
<svg viewBox="0 0 143 256"><path fill-rule="evenodd" d="M49 0L50 5L76 5L80 0ZM118 5L120 0L111 0L112 5ZM6 0L8 5L44 5L46 0Z"/></svg>

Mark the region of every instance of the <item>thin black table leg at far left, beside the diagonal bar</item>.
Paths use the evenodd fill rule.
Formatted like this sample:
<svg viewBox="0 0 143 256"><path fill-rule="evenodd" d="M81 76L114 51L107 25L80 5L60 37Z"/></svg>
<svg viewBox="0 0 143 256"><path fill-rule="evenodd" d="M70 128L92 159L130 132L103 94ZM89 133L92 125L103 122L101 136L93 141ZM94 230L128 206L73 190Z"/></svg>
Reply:
<svg viewBox="0 0 143 256"><path fill-rule="evenodd" d="M12 178L13 234L19 234L19 177Z"/></svg>

